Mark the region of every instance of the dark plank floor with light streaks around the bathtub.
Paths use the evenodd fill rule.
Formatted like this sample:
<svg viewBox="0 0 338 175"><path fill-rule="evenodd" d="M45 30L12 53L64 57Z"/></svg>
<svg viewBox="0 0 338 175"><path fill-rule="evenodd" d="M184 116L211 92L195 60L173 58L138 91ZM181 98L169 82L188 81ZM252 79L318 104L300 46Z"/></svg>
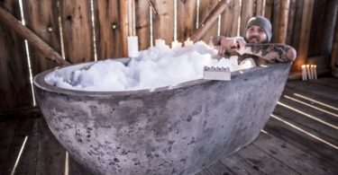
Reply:
<svg viewBox="0 0 338 175"><path fill-rule="evenodd" d="M197 174L337 175L337 108L338 79L290 81L260 136ZM0 174L52 175L66 171L70 175L89 174L68 156L43 118L1 116Z"/></svg>

